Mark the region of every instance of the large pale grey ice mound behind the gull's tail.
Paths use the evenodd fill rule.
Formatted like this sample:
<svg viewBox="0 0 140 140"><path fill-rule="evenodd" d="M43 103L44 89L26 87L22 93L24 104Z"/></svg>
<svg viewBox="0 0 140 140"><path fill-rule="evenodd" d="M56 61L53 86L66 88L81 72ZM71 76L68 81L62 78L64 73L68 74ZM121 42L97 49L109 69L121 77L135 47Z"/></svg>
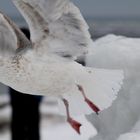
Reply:
<svg viewBox="0 0 140 140"><path fill-rule="evenodd" d="M115 35L107 35L94 42L93 54L87 57L87 65L97 68L123 69L125 79L114 104L103 111L99 117L95 115L88 117L98 132L93 140L116 140L118 138L122 140L124 137L122 134L131 132L139 121L139 44L140 39Z"/></svg>

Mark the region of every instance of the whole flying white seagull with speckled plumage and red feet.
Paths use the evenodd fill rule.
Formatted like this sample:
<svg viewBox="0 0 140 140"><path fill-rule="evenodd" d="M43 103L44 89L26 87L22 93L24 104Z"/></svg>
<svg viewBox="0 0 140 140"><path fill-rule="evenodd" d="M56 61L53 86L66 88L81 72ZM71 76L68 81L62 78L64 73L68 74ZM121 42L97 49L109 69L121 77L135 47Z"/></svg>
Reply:
<svg viewBox="0 0 140 140"><path fill-rule="evenodd" d="M74 116L111 106L123 71L77 63L94 44L80 10L70 0L12 0L31 33L28 40L0 12L0 82L25 94L54 97L60 114L80 134Z"/></svg>

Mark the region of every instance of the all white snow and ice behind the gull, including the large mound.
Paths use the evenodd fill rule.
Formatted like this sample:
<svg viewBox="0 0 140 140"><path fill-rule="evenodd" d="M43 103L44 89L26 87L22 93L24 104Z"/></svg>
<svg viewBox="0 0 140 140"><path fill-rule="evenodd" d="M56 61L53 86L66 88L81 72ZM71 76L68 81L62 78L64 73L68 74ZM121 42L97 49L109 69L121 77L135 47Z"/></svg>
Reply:
<svg viewBox="0 0 140 140"><path fill-rule="evenodd" d="M57 115L58 110L55 104L48 108L45 103L42 103L40 109L42 112L41 139L140 140L139 44L140 39L114 35L108 35L96 40L93 46L93 54L87 58L87 65L97 68L124 70L124 85L117 100L110 108L101 112L99 116L95 114L87 116L95 128L84 116L77 118L84 124L82 136L78 136L71 129L65 122L65 118ZM2 99L1 101L4 100ZM5 102L8 102L8 98ZM49 115L46 117L46 114L50 114L51 119ZM0 119L2 121L5 119L5 122L6 120L10 121L10 117L4 116L10 116L10 107L7 106L5 111L0 110ZM9 139L10 131L6 128L0 132L0 140Z"/></svg>

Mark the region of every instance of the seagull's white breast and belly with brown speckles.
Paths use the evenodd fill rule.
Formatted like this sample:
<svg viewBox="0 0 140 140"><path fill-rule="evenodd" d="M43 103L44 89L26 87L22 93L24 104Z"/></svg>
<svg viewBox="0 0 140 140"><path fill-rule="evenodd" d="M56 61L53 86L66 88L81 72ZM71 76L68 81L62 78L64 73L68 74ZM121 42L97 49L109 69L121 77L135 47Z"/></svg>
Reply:
<svg viewBox="0 0 140 140"><path fill-rule="evenodd" d="M71 63L33 56L7 60L1 69L1 82L28 94L62 95L74 92L76 77Z"/></svg>

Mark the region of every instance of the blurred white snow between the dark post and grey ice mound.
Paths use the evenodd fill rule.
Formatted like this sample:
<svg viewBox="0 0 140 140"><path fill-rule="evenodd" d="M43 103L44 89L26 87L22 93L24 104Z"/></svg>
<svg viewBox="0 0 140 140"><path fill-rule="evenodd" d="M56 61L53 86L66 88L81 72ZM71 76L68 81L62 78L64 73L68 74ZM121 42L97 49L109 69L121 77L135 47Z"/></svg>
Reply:
<svg viewBox="0 0 140 140"><path fill-rule="evenodd" d="M88 140L97 134L96 129L91 125L85 116L78 116L74 118L83 124L80 129L81 135L77 134L66 122L66 118L58 115L58 107L55 100L44 100L46 103L42 103L40 107L41 114L50 114L51 117L48 116L48 118L42 119L41 121L40 133L42 140ZM47 102L52 102L54 104L50 103L50 105L48 104L46 106Z"/></svg>

